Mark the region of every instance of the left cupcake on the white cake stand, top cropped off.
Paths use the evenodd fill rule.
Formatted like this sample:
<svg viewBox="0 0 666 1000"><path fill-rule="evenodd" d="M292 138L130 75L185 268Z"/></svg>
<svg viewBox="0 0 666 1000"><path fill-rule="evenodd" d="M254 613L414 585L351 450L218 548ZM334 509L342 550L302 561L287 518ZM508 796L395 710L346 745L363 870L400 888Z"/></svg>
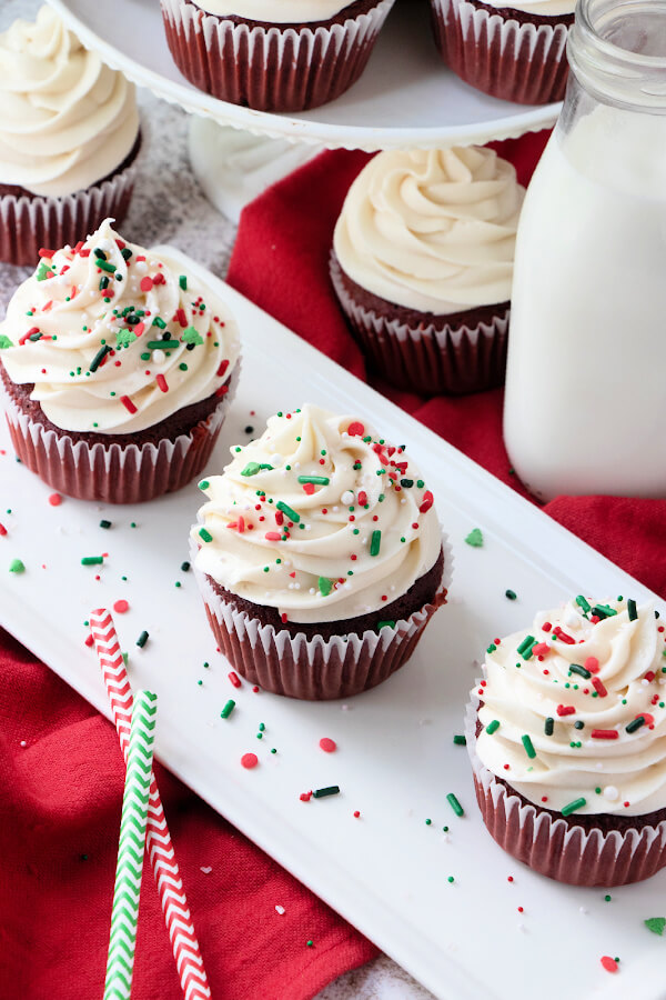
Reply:
<svg viewBox="0 0 666 1000"><path fill-rule="evenodd" d="M161 0L190 83L256 111L317 108L354 83L394 0Z"/></svg>

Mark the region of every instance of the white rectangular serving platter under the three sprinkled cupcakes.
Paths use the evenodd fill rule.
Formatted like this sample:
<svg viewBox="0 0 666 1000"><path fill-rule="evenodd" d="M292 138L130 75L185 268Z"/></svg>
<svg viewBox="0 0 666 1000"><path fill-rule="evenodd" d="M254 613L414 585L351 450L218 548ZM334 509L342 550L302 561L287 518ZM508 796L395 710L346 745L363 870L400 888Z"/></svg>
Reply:
<svg viewBox="0 0 666 1000"><path fill-rule="evenodd" d="M239 392L208 471L221 471L230 446L249 440L248 427L260 433L278 410L312 401L367 418L408 446L434 491L455 553L450 604L408 664L346 703L253 693L245 682L236 691L193 573L180 569L202 500L196 486L143 506L63 498L52 507L51 490L14 461L2 426L0 622L108 716L84 620L93 608L127 599L130 610L115 616L117 627L132 684L159 694L160 760L437 997L666 997L666 943L643 923L666 914L666 872L612 890L609 902L604 889L534 874L486 832L465 748L453 743L492 638L579 592L654 596L222 281L169 252L205 276L242 336ZM100 528L101 519L111 529ZM465 544L472 528L482 529L483 548ZM103 552L103 567L81 564ZM8 572L13 558L24 573ZM517 600L507 600L507 588ZM143 630L150 638L141 649ZM223 720L232 697L236 708ZM319 749L322 737L336 741L336 752ZM253 771L240 764L248 751L260 759ZM300 800L331 784L341 794ZM268 903L273 911L280 900ZM619 972L604 971L605 954L620 958Z"/></svg>

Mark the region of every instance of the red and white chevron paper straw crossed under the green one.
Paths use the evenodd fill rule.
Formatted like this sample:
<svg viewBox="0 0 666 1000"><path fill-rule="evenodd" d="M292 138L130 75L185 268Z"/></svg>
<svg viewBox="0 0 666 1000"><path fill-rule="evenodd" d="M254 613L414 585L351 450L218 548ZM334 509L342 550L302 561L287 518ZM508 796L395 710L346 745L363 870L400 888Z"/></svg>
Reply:
<svg viewBox="0 0 666 1000"><path fill-rule="evenodd" d="M107 684L120 748L127 761L132 719L132 689L113 619L105 608L92 612L90 630ZM185 1000L210 1000L211 990L154 774L150 778L145 849L158 884L183 996Z"/></svg>

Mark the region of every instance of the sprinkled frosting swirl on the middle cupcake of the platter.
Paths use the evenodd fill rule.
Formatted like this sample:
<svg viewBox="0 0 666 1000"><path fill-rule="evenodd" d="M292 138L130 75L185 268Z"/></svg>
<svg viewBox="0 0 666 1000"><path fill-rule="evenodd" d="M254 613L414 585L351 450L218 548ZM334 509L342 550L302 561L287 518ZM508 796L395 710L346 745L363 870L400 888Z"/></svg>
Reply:
<svg viewBox="0 0 666 1000"><path fill-rule="evenodd" d="M196 567L284 621L377 611L435 564L442 532L433 494L365 420L314 406L271 417L231 449L192 539Z"/></svg>

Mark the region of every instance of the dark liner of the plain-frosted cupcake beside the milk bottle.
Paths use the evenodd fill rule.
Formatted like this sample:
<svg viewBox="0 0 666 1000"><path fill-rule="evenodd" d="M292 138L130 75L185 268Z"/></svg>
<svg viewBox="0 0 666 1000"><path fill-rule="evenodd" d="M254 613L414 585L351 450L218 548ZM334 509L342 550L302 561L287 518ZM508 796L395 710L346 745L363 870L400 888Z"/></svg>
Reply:
<svg viewBox="0 0 666 1000"><path fill-rule="evenodd" d="M359 306L331 253L331 280L345 316L374 368L398 389L425 396L462 394L502 386L509 310L476 327L410 327Z"/></svg>

